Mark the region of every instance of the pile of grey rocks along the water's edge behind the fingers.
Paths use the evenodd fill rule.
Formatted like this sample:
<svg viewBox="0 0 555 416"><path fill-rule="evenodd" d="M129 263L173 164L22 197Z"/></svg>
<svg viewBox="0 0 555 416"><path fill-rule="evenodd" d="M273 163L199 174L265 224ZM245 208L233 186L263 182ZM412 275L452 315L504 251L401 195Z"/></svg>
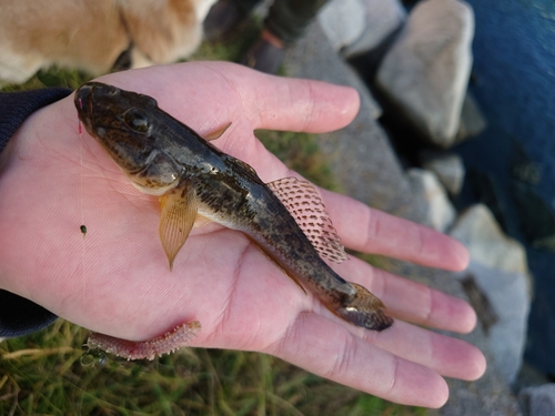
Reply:
<svg viewBox="0 0 555 416"><path fill-rule="evenodd" d="M488 371L475 383L451 381L452 398L440 413L518 415L509 385L519 371L526 339L531 302L526 254L502 232L485 205L457 213L451 202L461 191L465 169L448 149L485 128L466 91L473 32L472 8L460 0L422 0L410 13L400 0L332 0L319 24L287 52L284 65L289 75L349 84L361 93L363 105L355 121L321 138L321 150L344 192L373 207L447 232L471 253L471 266L456 275L415 272L408 266L394 270L420 274L416 278L454 295L465 296L466 288L467 297L477 300L474 306L482 325L462 338L484 349ZM376 92L380 104L341 59L364 54L379 57L371 63L375 77L370 90ZM369 81L367 73L361 75ZM404 169L376 121L382 108L393 109L400 122L417 132L418 140L440 150L420 154L418 169ZM533 397L546 397L543 390L534 394L526 393L531 409L536 403ZM542 406L546 403L537 400L543 400Z"/></svg>

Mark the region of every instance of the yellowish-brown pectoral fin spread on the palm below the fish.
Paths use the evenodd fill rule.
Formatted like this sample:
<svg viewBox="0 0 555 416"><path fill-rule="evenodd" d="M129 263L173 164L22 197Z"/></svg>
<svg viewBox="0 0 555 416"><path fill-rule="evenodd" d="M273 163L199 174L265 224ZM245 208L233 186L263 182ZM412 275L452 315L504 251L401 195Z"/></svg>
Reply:
<svg viewBox="0 0 555 416"><path fill-rule="evenodd" d="M160 241L172 270L173 260L193 227L199 203L190 182L180 184L160 196L159 201L162 206Z"/></svg>

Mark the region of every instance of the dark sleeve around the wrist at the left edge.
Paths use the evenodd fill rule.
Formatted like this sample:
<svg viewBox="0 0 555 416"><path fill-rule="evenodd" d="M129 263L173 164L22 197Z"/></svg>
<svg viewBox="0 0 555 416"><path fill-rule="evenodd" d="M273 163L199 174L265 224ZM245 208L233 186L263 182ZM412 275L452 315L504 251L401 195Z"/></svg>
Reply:
<svg viewBox="0 0 555 416"><path fill-rule="evenodd" d="M3 152L8 141L29 115L70 93L71 90L63 88L0 92L0 153ZM56 318L54 314L42 306L11 292L0 290L0 337L20 336L42 329Z"/></svg>

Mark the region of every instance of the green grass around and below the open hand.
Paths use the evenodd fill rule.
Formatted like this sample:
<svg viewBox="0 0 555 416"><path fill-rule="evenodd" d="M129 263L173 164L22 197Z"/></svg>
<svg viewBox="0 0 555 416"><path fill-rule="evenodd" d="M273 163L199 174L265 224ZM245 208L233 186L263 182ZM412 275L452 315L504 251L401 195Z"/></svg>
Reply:
<svg viewBox="0 0 555 416"><path fill-rule="evenodd" d="M192 60L236 61L256 38L203 44ZM75 89L78 71L40 71L23 85ZM340 191L315 135L256 131L264 145L314 183ZM369 258L370 260L370 258ZM0 415L425 415L256 353L183 348L153 362L109 356L100 364L82 348L88 331L63 319L0 343Z"/></svg>

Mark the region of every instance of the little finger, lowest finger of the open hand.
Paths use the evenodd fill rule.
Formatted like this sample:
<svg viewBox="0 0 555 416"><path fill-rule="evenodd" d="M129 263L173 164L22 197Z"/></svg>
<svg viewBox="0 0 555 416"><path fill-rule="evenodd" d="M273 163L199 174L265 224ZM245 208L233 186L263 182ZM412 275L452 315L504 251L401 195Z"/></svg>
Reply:
<svg viewBox="0 0 555 416"><path fill-rule="evenodd" d="M330 319L300 314L268 351L322 377L414 406L440 407L447 397L435 372L375 347Z"/></svg>

